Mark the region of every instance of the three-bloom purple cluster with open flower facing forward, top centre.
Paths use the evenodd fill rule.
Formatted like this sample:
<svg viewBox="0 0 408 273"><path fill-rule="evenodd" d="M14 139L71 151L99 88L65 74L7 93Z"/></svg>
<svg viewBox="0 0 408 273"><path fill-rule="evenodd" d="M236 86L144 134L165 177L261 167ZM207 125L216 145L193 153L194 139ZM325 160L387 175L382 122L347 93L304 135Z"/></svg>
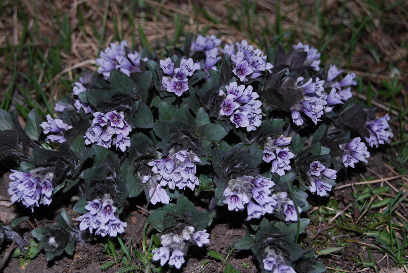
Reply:
<svg viewBox="0 0 408 273"><path fill-rule="evenodd" d="M182 59L179 68L174 68L174 63L170 58L160 60L160 68L167 76L162 77L162 85L168 92L180 97L188 90L187 77L193 75L197 69L193 59Z"/></svg>

